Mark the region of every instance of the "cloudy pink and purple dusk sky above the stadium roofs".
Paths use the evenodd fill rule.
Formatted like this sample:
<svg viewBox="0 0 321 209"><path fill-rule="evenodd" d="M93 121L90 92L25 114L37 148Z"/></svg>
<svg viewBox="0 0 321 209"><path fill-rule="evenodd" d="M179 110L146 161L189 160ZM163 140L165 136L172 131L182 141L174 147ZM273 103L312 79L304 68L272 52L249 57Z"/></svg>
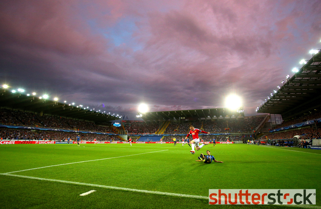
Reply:
<svg viewBox="0 0 321 209"><path fill-rule="evenodd" d="M0 84L116 114L224 107L245 115L311 49L321 1L1 1Z"/></svg>

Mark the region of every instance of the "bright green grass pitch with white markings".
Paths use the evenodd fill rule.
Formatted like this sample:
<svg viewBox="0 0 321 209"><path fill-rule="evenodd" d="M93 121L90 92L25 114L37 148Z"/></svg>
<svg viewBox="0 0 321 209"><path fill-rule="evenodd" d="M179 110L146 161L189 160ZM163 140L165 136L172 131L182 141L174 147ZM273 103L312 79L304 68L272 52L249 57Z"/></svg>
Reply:
<svg viewBox="0 0 321 209"><path fill-rule="evenodd" d="M1 145L0 173L198 196L208 196L208 189L306 188L318 193L321 188L320 150L217 144L191 155L190 149L181 144ZM207 149L224 163L195 162ZM110 159L74 163L104 158ZM65 163L73 164L21 171ZM206 199L5 175L0 175L0 185L0 208L289 208L208 205ZM79 196L90 190L96 191ZM316 208L320 206L317 194Z"/></svg>

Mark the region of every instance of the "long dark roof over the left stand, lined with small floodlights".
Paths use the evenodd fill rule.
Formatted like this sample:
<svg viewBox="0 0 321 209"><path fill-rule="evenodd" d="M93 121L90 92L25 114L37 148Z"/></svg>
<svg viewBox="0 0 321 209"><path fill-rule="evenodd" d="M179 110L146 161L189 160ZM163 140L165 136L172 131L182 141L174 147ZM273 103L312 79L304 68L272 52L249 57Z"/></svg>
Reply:
<svg viewBox="0 0 321 209"><path fill-rule="evenodd" d="M36 112L42 114L56 115L60 117L75 118L79 120L93 121L93 122L108 122L117 120L119 118L90 111L82 107L76 107L65 103L60 103L48 99L39 99L36 96L27 96L19 92L12 93L10 91L3 91L0 95L0 106L10 109L17 109L28 112Z"/></svg>

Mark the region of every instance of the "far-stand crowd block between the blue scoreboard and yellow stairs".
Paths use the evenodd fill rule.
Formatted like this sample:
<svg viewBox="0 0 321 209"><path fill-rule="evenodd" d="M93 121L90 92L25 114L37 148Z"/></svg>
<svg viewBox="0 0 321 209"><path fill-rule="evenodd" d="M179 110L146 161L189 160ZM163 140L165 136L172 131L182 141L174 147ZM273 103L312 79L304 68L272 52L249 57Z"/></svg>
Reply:
<svg viewBox="0 0 321 209"><path fill-rule="evenodd" d="M129 134L155 134L160 128L160 121L126 121L124 128Z"/></svg>

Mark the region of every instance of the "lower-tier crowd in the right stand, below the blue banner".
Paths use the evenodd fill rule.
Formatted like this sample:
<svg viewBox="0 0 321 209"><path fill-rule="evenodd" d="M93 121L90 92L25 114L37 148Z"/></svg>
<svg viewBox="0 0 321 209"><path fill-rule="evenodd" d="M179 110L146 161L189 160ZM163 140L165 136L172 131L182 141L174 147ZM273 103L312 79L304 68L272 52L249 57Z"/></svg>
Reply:
<svg viewBox="0 0 321 209"><path fill-rule="evenodd" d="M294 136L301 136L301 139L321 139L321 129L306 128L289 130L268 135L268 139L292 139ZM266 138L266 137L265 137Z"/></svg>

